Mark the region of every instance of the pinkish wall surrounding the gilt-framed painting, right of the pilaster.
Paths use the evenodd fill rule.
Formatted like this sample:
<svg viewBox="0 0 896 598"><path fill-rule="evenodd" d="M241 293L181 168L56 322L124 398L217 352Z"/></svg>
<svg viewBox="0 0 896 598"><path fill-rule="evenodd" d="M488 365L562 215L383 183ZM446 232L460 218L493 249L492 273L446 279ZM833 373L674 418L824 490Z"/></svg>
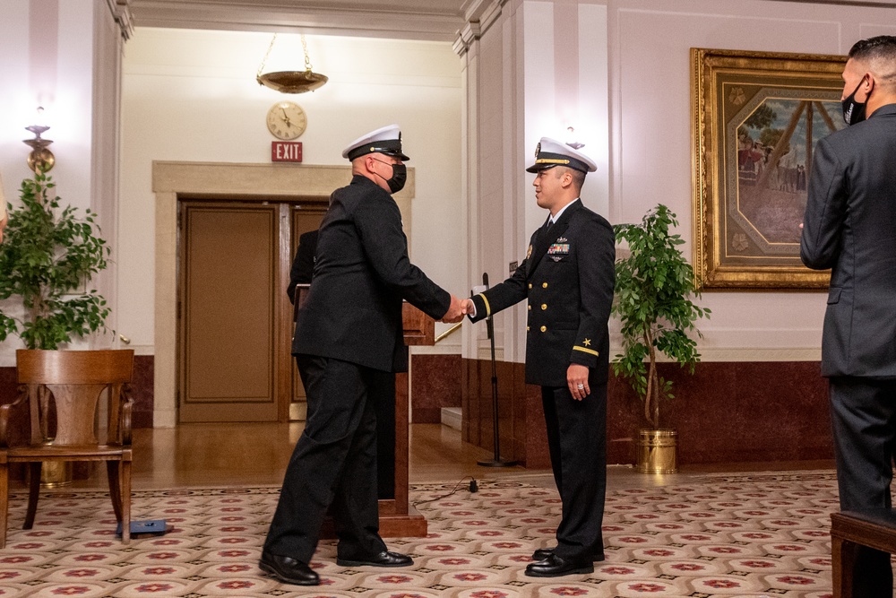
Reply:
<svg viewBox="0 0 896 598"><path fill-rule="evenodd" d="M844 55L858 39L896 33L896 11L766 0L607 3L613 222L659 202L692 247L690 48ZM881 23L891 23L884 27ZM706 360L818 360L823 292L706 292Z"/></svg>

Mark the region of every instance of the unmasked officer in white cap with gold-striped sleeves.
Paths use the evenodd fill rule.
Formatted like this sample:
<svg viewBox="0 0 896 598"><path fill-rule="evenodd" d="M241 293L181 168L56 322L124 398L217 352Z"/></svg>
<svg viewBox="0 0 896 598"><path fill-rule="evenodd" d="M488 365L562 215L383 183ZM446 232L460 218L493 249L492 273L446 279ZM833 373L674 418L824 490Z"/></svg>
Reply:
<svg viewBox="0 0 896 598"><path fill-rule="evenodd" d="M529 299L526 382L541 386L551 466L563 515L557 546L539 549L526 575L590 573L604 559L601 523L607 486L607 320L616 280L609 223L579 192L597 166L547 137L536 150L535 197L549 210L513 276L465 299L474 322Z"/></svg>

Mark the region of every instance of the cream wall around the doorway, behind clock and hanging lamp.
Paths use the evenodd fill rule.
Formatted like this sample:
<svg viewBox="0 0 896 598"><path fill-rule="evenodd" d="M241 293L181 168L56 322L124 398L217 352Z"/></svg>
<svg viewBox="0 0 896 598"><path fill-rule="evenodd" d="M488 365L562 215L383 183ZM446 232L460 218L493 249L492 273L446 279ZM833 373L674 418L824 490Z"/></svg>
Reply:
<svg viewBox="0 0 896 598"><path fill-rule="evenodd" d="M347 164L340 154L351 141L401 125L417 182L411 260L462 292L462 268L452 259L462 234L461 63L451 46L309 36L314 71L330 81L288 96L255 82L270 42L267 33L138 28L125 47L119 293L129 299L119 323L141 353L153 352L152 160L270 163L264 118L282 99L306 111L297 139L306 164ZM265 71L302 69L299 37L280 35ZM459 342L449 337L436 351L459 351Z"/></svg>

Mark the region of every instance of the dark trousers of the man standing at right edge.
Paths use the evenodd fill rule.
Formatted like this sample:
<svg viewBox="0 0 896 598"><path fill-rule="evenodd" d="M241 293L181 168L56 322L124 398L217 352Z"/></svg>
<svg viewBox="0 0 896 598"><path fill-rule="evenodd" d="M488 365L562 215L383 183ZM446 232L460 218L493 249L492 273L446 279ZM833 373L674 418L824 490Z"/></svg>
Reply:
<svg viewBox="0 0 896 598"><path fill-rule="evenodd" d="M896 381L831 377L831 424L840 509L891 508ZM859 547L853 595L892 598L890 555Z"/></svg>

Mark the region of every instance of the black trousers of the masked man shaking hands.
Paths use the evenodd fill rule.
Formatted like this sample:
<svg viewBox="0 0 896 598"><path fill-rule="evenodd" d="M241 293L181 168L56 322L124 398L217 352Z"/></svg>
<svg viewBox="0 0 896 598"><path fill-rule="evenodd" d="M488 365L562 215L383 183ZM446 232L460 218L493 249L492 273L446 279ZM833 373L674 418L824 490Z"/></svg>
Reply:
<svg viewBox="0 0 896 598"><path fill-rule="evenodd" d="M264 549L310 562L332 507L340 558L382 552L371 394L383 372L310 355L297 355L296 362L308 401L306 426L289 459Z"/></svg>

